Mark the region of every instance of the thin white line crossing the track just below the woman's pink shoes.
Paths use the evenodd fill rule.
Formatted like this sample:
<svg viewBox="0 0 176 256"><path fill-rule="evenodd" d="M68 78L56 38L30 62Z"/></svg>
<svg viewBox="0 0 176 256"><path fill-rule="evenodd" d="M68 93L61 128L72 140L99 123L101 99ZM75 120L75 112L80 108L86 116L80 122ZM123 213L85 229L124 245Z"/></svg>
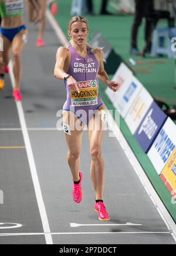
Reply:
<svg viewBox="0 0 176 256"><path fill-rule="evenodd" d="M119 235L123 235L123 234L169 234L170 232L72 232L72 233L50 233L50 235L104 235L104 234L119 234ZM45 233L2 233L0 234L0 237L13 237L13 236L25 236L25 235L46 235Z"/></svg>

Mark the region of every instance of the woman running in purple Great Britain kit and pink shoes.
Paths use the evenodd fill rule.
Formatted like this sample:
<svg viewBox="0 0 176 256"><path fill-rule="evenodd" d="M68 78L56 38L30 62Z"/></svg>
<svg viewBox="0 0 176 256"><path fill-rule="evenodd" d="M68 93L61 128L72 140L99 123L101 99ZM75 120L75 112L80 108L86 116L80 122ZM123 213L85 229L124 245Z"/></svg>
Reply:
<svg viewBox="0 0 176 256"><path fill-rule="evenodd" d="M87 125L92 157L90 176L96 194L94 210L99 213L99 220L106 221L110 220L110 216L103 202L105 173L101 152L106 109L99 96L98 75L114 92L120 86L117 82L111 82L104 70L103 50L91 48L87 43L87 19L82 16L73 17L67 31L71 38L70 46L57 50L55 77L65 80L67 90L67 100L63 106L63 130L69 147L67 160L73 177L73 200L80 203L83 199L80 152L83 128Z"/></svg>

